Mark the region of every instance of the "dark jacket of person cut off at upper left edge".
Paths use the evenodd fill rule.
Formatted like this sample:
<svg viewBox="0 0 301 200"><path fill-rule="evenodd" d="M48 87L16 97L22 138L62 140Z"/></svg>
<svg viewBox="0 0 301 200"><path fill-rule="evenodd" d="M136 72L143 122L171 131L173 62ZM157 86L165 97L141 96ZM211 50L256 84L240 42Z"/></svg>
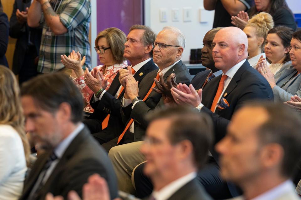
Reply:
<svg viewBox="0 0 301 200"><path fill-rule="evenodd" d="M0 11L0 65L8 67L5 53L8 45L9 24L7 15Z"/></svg>

